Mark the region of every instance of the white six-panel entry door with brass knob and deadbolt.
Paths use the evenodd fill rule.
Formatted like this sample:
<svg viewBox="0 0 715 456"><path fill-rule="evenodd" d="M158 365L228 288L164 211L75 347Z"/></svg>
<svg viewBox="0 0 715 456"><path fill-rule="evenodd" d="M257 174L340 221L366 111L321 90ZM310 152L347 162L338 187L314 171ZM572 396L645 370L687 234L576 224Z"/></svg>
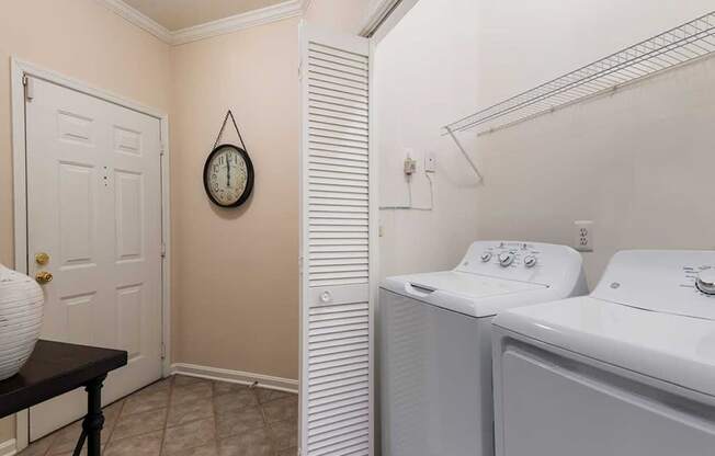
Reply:
<svg viewBox="0 0 715 456"><path fill-rule="evenodd" d="M107 403L161 377L160 121L29 83L27 264L31 275L54 275L42 285L42 338L126 350L128 366L105 381ZM86 410L83 390L33 407L31 440Z"/></svg>

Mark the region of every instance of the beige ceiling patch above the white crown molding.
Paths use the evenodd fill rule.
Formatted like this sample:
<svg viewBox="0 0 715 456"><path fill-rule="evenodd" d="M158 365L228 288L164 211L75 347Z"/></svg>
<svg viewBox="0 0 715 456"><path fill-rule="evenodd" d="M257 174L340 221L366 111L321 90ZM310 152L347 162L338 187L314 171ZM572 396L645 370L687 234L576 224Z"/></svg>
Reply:
<svg viewBox="0 0 715 456"><path fill-rule="evenodd" d="M124 0L170 32L283 3L285 0Z"/></svg>

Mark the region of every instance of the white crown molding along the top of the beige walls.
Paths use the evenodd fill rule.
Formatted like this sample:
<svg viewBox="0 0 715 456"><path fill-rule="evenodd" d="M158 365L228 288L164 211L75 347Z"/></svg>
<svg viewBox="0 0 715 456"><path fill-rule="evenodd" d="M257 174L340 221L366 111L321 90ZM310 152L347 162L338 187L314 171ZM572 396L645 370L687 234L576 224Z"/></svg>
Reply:
<svg viewBox="0 0 715 456"><path fill-rule="evenodd" d="M271 7L248 11L241 14L172 32L135 8L126 4L123 0L98 1L132 24L149 32L163 43L171 46L192 43L200 39L211 38L212 36L224 35L239 30L281 21L283 19L298 16L302 15L310 4L310 0L287 0Z"/></svg>

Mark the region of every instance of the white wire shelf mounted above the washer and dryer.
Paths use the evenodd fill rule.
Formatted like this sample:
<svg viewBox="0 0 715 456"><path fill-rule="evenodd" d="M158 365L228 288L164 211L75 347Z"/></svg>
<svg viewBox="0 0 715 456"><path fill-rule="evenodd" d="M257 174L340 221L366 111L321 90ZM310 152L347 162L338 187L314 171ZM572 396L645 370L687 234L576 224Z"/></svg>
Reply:
<svg viewBox="0 0 715 456"><path fill-rule="evenodd" d="M715 53L715 11L444 127L495 132Z"/></svg>

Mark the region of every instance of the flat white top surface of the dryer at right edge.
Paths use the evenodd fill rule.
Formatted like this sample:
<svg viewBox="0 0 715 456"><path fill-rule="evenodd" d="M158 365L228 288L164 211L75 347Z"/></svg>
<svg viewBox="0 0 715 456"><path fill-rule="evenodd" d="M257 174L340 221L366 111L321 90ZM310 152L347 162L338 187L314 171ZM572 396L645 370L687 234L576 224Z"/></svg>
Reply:
<svg viewBox="0 0 715 456"><path fill-rule="evenodd" d="M512 309L495 324L715 397L715 321L580 297Z"/></svg>

